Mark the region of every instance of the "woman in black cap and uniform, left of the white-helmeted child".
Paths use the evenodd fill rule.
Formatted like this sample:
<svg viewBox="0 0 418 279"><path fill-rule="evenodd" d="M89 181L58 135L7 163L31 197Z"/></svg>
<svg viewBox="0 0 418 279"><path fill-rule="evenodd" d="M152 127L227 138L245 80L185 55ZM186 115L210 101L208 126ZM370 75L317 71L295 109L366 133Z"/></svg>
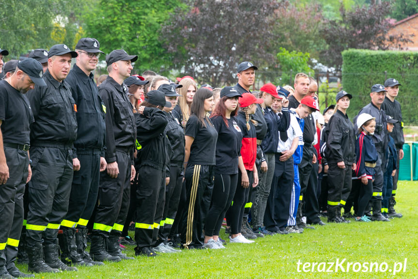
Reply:
<svg viewBox="0 0 418 279"><path fill-rule="evenodd" d="M356 169L356 135L346 110L350 106L351 94L337 93L336 110L326 126L325 157L328 163L328 222L349 223L341 216L351 191L351 173Z"/></svg>

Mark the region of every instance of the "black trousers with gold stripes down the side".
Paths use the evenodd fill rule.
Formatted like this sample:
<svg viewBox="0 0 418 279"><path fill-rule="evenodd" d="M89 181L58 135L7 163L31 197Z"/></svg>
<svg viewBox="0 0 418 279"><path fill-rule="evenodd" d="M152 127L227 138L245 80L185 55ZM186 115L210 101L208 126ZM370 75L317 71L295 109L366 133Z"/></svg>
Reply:
<svg viewBox="0 0 418 279"><path fill-rule="evenodd" d="M186 178L186 209L182 216L182 247L199 248L204 244L203 228L214 187L214 165L188 164Z"/></svg>

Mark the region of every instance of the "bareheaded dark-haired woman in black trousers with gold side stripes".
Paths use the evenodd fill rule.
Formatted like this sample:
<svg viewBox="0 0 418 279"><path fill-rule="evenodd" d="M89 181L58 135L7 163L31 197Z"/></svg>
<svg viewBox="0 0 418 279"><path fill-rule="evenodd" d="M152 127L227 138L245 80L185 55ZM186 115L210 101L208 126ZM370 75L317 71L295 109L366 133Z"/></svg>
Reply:
<svg viewBox="0 0 418 279"><path fill-rule="evenodd" d="M203 226L214 185L217 131L206 115L214 106L212 91L200 88L194 95L186 125L186 210L182 218L182 247L202 248Z"/></svg>

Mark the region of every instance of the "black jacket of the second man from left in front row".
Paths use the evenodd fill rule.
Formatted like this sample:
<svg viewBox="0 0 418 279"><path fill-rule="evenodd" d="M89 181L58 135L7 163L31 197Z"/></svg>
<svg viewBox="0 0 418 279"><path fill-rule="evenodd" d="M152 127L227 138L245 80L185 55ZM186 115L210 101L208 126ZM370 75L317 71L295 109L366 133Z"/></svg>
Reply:
<svg viewBox="0 0 418 279"><path fill-rule="evenodd" d="M55 80L48 70L44 80L47 86L35 85L27 94L35 119L31 125L31 145L50 143L73 147L77 138L77 105L70 85Z"/></svg>

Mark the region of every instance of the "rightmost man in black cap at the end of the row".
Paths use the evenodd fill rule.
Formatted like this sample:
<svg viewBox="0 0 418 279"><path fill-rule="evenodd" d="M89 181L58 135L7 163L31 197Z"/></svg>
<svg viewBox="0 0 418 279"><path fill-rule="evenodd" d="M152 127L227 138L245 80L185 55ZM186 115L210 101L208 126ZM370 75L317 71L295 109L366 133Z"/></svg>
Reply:
<svg viewBox="0 0 418 279"><path fill-rule="evenodd" d="M399 83L396 79L387 79L385 81L385 89L386 89L386 97L382 104L382 110L386 113L386 115L392 116L393 119L398 120L397 123L395 123L393 131L390 132L390 136L395 141L396 150L398 151L398 162L397 162L397 170L396 174L393 177L393 189L392 189L392 197L389 199L389 207L387 209L387 215L390 217L398 217L401 218L402 214L397 213L395 211L394 205L395 205L395 195L396 195L396 189L398 188L398 178L399 178L399 161L403 158L403 144L405 143L405 140L403 139L403 121L402 121L402 110L401 110L401 104L395 100L396 97L398 97L399 93L399 86L402 85Z"/></svg>

